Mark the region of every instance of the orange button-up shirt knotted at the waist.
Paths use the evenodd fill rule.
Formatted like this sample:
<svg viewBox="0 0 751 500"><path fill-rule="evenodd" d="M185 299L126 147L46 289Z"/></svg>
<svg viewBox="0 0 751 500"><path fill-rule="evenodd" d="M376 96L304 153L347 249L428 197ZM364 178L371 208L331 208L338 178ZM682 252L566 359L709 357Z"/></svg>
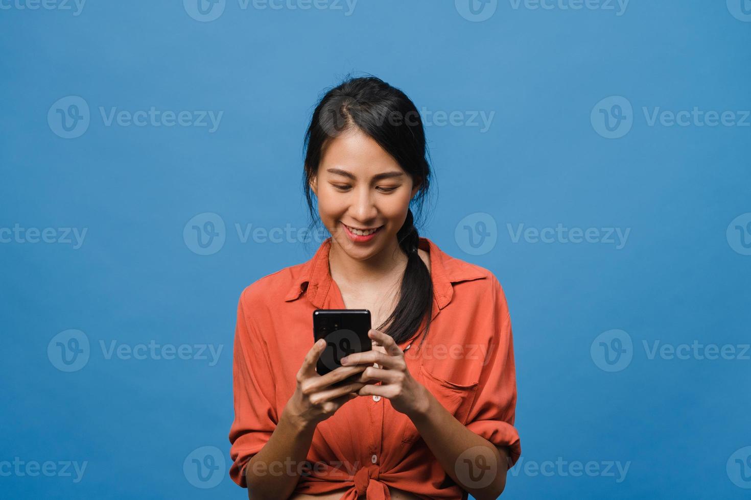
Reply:
<svg viewBox="0 0 751 500"><path fill-rule="evenodd" d="M249 458L268 442L294 394L297 370L313 346L313 311L345 308L329 270L330 245L329 237L308 262L262 277L240 295L229 439L230 476L241 487L247 487ZM493 273L448 256L427 238L420 238L420 248L430 252L433 322L420 349L417 333L399 344L409 373L469 430L493 445L508 445L513 465L521 448L503 289ZM318 424L307 460L294 493L351 486L342 500L381 500L391 498L391 486L424 499L467 498L409 417L386 397L356 397ZM287 467L279 464L280 471Z"/></svg>

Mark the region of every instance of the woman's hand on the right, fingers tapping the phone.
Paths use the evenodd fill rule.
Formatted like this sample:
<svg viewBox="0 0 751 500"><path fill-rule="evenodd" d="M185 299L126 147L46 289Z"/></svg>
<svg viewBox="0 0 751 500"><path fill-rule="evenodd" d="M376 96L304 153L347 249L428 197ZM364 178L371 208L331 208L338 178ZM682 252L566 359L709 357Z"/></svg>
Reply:
<svg viewBox="0 0 751 500"><path fill-rule="evenodd" d="M412 415L425 412L429 404L427 389L409 373L404 352L400 346L397 346L391 336L374 328L368 331L368 337L375 340L377 346L382 346L385 352L375 349L374 346L372 351L355 352L342 358L342 365L379 364L382 368L367 367L357 380L360 382L380 381L381 385L363 385L357 394L386 397L397 412L410 418Z"/></svg>

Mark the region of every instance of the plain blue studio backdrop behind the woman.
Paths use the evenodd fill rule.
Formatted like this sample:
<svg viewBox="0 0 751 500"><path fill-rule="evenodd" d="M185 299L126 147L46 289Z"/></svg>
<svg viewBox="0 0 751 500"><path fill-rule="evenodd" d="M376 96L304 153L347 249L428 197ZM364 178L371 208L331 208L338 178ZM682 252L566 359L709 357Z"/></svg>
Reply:
<svg viewBox="0 0 751 500"><path fill-rule="evenodd" d="M749 343L751 256L726 229L751 212L751 127L650 126L642 110L751 109L751 22L725 1L632 0L619 16L502 0L482 22L446 0L360 0L349 16L346 4L228 0L211 22L178 0L89 1L77 16L18 5L0 10L0 226L88 229L77 249L0 244L0 462L88 465L76 484L0 476L0 496L246 498L227 472L237 299L318 245L243 242L235 224L307 225L303 133L321 91L353 70L403 88L418 109L495 113L484 132L427 127L437 189L421 235L505 289L523 460L630 461L620 482L517 468L504 498L748 495L751 481L734 484L726 464L751 445L751 361L650 359L642 346ZM47 113L71 95L90 124L64 139ZM610 96L633 106L619 139L590 120ZM213 133L107 127L100 106L224 114ZM222 217L225 244L199 255L183 229L206 212ZM496 223L496 243L473 255L456 229L478 213ZM630 233L617 249L514 242L507 226L558 223ZM71 373L47 354L68 329L91 344ZM632 339L632 361L608 372L590 346L613 329ZM215 366L107 359L99 343L113 340L223 350ZM225 454L212 489L183 472L203 446Z"/></svg>

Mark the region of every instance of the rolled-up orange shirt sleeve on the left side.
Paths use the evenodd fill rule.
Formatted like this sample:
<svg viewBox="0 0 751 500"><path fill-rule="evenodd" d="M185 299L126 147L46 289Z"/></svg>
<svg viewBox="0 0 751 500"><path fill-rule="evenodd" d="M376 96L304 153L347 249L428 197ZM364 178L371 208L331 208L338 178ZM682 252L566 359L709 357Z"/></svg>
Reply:
<svg viewBox="0 0 751 500"><path fill-rule="evenodd" d="M234 421L230 428L230 477L246 488L245 466L252 455L261 451L279 423L275 400L275 385L268 349L253 321L251 287L240 295L237 305L232 388L234 393Z"/></svg>

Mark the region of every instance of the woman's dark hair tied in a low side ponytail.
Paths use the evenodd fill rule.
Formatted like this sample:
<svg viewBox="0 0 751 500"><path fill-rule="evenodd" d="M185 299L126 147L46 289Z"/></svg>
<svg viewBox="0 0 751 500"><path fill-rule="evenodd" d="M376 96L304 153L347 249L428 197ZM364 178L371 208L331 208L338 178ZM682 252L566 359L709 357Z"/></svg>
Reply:
<svg viewBox="0 0 751 500"><path fill-rule="evenodd" d="M305 175L303 189L312 224L318 223L310 181L318 173L324 148L330 139L348 130L359 129L375 140L411 177L420 184L410 201L418 217L430 187L430 162L425 144L422 118L412 100L375 76L347 77L330 88L319 100L305 134ZM330 233L329 233L330 234ZM391 335L397 343L412 337L425 319L425 335L433 310L433 281L430 271L418 255L418 230L412 208L397 232L400 249L408 258L394 311L382 325L374 328ZM423 337L424 340L424 337ZM419 349L419 346L418 346Z"/></svg>

